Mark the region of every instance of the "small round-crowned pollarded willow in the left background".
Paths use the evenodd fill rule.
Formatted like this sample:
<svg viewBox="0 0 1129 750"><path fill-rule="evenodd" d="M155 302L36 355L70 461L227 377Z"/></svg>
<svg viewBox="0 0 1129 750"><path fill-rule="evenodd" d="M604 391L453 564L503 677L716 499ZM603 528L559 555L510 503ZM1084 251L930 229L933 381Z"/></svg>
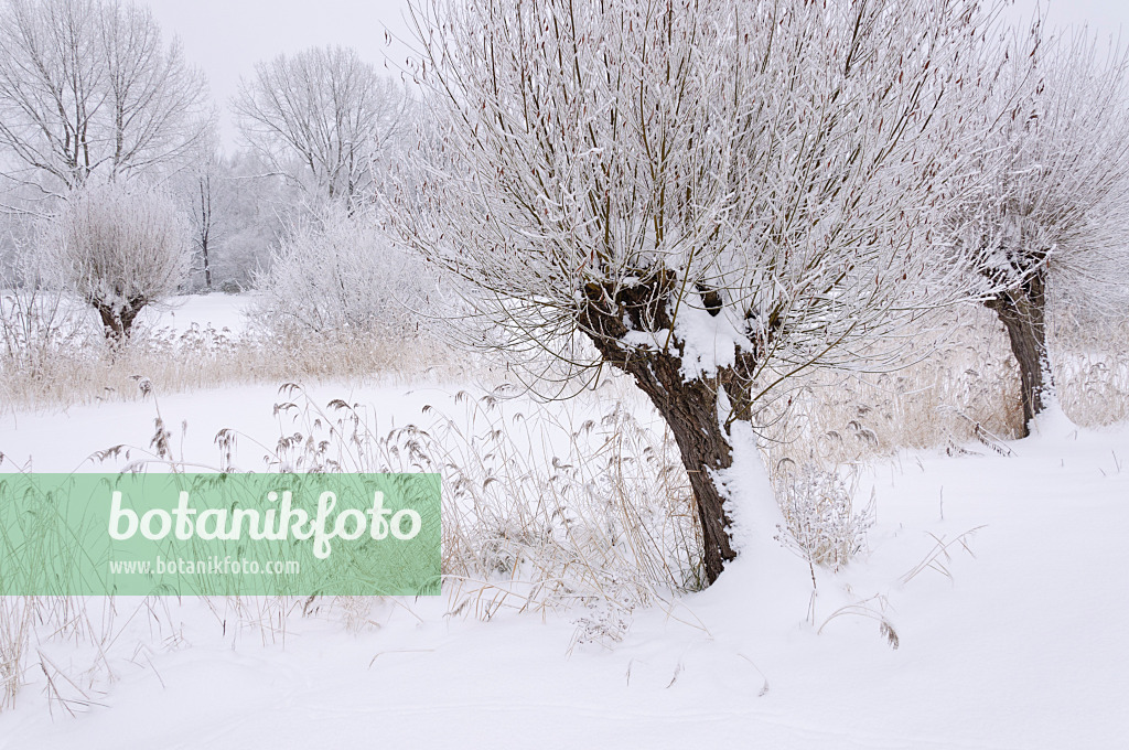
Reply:
<svg viewBox="0 0 1129 750"><path fill-rule="evenodd" d="M88 185L44 225L41 268L94 307L106 338L129 338L147 305L176 293L191 260L190 229L172 199L145 186Z"/></svg>

